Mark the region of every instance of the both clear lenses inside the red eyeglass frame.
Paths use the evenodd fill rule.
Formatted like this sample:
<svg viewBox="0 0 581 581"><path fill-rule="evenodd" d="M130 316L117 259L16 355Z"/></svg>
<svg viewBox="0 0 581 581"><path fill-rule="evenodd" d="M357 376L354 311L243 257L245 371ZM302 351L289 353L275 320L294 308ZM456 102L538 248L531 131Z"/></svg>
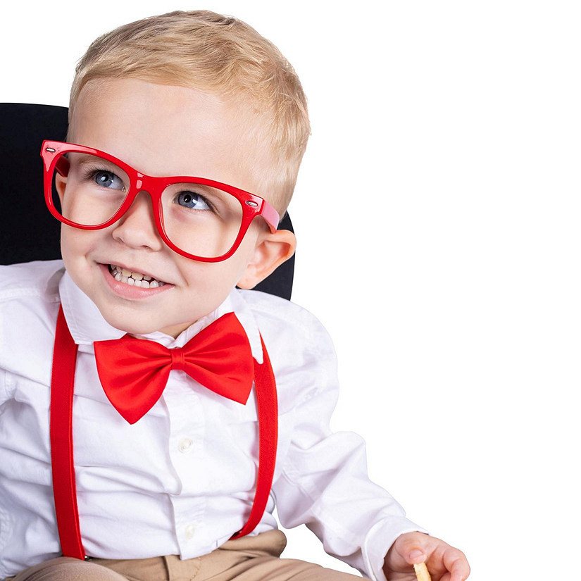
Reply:
<svg viewBox="0 0 581 581"><path fill-rule="evenodd" d="M54 207L63 218L79 225L110 220L130 191L127 173L99 156L68 152L61 154L55 168ZM204 258L222 256L232 248L243 218L242 204L235 196L195 182L166 186L158 211L168 239Z"/></svg>

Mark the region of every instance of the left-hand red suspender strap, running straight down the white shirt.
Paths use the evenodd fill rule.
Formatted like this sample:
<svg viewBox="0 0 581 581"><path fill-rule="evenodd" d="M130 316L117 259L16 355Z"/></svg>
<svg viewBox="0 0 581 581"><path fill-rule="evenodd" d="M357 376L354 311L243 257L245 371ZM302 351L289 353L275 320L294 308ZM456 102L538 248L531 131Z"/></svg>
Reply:
<svg viewBox="0 0 581 581"><path fill-rule="evenodd" d="M85 558L73 462L73 390L78 346L58 309L51 379L51 461L54 508L64 556Z"/></svg>

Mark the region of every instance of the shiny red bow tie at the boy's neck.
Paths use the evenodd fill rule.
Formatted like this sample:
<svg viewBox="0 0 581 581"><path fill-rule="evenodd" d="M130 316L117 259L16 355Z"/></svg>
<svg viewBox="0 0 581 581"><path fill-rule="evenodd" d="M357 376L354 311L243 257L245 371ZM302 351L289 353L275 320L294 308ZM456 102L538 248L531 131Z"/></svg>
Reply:
<svg viewBox="0 0 581 581"><path fill-rule="evenodd" d="M94 342L99 380L111 404L133 424L161 397L170 370L184 370L213 392L246 404L254 363L234 313L215 320L179 349L125 335Z"/></svg>

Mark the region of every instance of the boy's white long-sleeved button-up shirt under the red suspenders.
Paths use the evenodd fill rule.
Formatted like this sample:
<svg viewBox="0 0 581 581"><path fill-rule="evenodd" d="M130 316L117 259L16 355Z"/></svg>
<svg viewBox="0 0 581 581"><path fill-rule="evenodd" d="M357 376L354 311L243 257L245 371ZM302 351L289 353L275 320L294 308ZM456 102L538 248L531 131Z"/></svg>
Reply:
<svg viewBox="0 0 581 581"><path fill-rule="evenodd" d="M223 544L254 500L258 423L254 389L246 405L173 370L163 396L134 425L99 383L93 342L116 339L62 261L0 266L0 578L60 554L51 485L49 400L59 304L79 345L73 443L82 542L87 555L193 558ZM325 329L295 304L233 290L177 339L183 346L233 311L262 362L260 333L277 382L279 440L273 488L253 535L301 523L325 551L374 580L392 542L421 530L370 482L363 440L330 431L337 400L335 352Z"/></svg>

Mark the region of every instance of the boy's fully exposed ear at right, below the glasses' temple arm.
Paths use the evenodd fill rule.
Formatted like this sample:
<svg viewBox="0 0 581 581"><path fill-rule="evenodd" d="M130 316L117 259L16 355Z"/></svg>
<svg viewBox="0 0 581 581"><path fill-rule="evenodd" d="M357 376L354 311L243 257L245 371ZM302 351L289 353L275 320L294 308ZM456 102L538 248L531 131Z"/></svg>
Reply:
<svg viewBox="0 0 581 581"><path fill-rule="evenodd" d="M296 237L290 230L262 234L256 243L254 256L238 281L241 289L251 289L287 261L296 249Z"/></svg>

